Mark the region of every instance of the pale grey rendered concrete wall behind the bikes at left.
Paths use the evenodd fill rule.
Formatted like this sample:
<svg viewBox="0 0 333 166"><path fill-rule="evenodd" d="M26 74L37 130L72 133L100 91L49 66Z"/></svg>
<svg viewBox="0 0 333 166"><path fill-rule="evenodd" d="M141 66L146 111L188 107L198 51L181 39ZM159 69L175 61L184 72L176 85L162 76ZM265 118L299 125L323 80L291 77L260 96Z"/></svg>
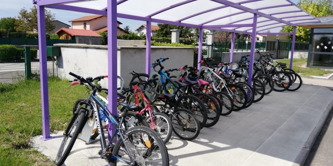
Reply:
<svg viewBox="0 0 333 166"><path fill-rule="evenodd" d="M59 77L73 80L69 72L83 77L107 74L107 46L86 44L55 44L55 46L61 46L61 56L57 58ZM163 63L165 69L193 64L194 48L191 47L152 46L151 53L151 62L160 57L169 58ZM146 47L118 47L117 59L117 73L125 80L124 86L128 87L132 78L130 72L133 70L138 73L145 72ZM154 70L151 68L151 71ZM107 87L106 81L107 79L101 81L103 87Z"/></svg>

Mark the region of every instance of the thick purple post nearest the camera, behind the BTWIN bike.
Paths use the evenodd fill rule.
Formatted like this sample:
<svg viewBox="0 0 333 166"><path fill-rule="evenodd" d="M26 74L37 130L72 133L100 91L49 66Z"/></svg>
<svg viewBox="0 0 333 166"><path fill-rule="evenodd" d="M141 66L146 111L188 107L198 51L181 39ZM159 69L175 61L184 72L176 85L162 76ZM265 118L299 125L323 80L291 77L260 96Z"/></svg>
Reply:
<svg viewBox="0 0 333 166"><path fill-rule="evenodd" d="M117 116L117 1L108 1L108 109L111 114ZM110 92L109 91L109 92ZM110 123L109 123L110 124ZM116 126L108 127L109 141Z"/></svg>

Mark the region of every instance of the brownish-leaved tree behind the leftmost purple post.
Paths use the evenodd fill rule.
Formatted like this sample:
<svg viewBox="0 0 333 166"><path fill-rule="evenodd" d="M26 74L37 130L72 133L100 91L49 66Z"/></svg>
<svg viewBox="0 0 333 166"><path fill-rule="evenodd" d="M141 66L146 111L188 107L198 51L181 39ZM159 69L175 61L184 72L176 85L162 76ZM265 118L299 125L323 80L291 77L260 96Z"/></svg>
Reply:
<svg viewBox="0 0 333 166"><path fill-rule="evenodd" d="M55 14L49 10L45 10L45 25L46 32L50 33L54 30L52 22L55 20ZM37 26L37 8L34 6L30 11L25 8L21 8L16 20L16 31L31 31L38 30Z"/></svg>

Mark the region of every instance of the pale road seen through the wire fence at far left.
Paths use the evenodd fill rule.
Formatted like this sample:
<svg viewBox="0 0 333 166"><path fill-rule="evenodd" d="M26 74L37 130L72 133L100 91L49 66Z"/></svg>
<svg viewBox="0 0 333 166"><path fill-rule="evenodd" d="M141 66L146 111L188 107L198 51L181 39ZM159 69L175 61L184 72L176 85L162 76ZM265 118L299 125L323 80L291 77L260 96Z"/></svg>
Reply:
<svg viewBox="0 0 333 166"><path fill-rule="evenodd" d="M47 62L49 73L52 73L52 63L52 61ZM31 62L31 72L39 73L39 62ZM23 79L24 77L24 63L0 63L0 83L14 83Z"/></svg>

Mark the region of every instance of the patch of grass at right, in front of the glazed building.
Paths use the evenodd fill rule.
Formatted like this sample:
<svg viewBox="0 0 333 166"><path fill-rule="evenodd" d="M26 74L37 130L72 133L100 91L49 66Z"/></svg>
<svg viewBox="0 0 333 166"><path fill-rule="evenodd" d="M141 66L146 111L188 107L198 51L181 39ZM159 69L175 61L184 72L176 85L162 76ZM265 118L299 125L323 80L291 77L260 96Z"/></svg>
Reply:
<svg viewBox="0 0 333 166"><path fill-rule="evenodd" d="M287 67L289 68L290 65L290 59L281 59L277 60L278 62L286 63ZM330 74L332 71L324 70L320 68L314 68L314 67L306 67L307 59L293 59L292 69L296 73L302 73L306 76L323 76L324 74ZM304 67L305 66L305 67Z"/></svg>

